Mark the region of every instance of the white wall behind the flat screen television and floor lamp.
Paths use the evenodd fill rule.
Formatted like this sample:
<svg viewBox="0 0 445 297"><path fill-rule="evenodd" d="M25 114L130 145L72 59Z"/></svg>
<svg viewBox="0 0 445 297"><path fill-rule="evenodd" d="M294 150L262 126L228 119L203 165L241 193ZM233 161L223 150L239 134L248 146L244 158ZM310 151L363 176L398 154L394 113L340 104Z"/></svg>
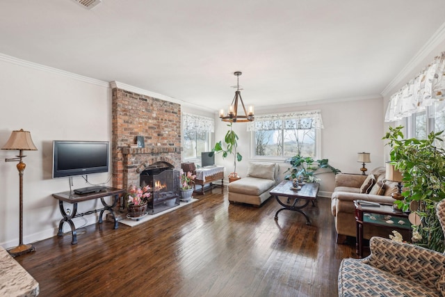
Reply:
<svg viewBox="0 0 445 297"><path fill-rule="evenodd" d="M25 152L24 158L24 243L57 233L62 216L51 194L70 189L67 178L51 179L52 141L111 141L108 83L58 72L0 57L0 146L8 141L11 131L24 129L31 131L38 147L38 151ZM0 245L5 248L17 246L19 241L19 175L15 162L3 161L16 154L18 151L0 150ZM88 179L104 183L109 177L111 171ZM83 186L86 182L75 177L74 188ZM99 200L82 202L79 210L101 205ZM89 223L96 216L89 216ZM81 226L85 220L76 218L74 222Z"/></svg>

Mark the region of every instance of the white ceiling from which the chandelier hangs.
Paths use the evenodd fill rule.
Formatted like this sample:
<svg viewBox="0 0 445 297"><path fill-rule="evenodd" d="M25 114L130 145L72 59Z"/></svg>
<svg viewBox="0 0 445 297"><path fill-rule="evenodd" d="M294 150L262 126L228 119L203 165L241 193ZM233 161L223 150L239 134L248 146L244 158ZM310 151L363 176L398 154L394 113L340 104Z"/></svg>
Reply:
<svg viewBox="0 0 445 297"><path fill-rule="evenodd" d="M0 1L0 53L227 109L380 95L444 0ZM439 53L437 53L439 54Z"/></svg>

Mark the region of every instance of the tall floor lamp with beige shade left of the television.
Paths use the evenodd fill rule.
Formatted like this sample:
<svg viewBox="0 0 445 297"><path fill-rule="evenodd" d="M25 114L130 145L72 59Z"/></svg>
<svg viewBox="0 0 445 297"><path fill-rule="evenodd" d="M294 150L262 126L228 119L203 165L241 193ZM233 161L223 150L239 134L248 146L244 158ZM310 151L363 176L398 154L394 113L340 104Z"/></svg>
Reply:
<svg viewBox="0 0 445 297"><path fill-rule="evenodd" d="M25 157L23 155L24 150L37 150L37 147L35 147L33 140L31 139L31 133L29 133L29 131L23 131L23 129L20 129L19 131L13 131L13 133L8 139L8 142L6 143L6 145L3 145L3 147L1 147L1 150L19 151L19 155L16 156L16 158L5 159L6 162L10 161L19 162L17 163L17 170L19 170L19 199L20 199L19 246L16 246L15 248L11 248L10 250L8 250L10 255L15 257L35 250L33 245L23 244L23 172L25 170L26 164L23 163L22 159Z"/></svg>

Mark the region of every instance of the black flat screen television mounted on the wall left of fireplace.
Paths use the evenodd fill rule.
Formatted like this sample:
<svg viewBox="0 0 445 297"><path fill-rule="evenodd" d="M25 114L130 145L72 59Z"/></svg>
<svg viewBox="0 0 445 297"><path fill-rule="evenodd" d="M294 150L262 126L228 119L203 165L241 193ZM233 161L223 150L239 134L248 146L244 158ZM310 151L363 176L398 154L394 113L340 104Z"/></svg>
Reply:
<svg viewBox="0 0 445 297"><path fill-rule="evenodd" d="M53 178L108 172L108 141L53 141Z"/></svg>

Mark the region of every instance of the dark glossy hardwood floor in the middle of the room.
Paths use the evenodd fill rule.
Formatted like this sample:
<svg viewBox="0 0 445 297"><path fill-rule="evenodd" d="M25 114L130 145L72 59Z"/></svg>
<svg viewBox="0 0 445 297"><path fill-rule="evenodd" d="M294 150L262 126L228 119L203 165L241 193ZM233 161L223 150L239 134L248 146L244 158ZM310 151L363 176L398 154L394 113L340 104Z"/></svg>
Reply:
<svg viewBox="0 0 445 297"><path fill-rule="evenodd" d="M269 199L229 204L227 189L136 227L90 225L34 244L16 257L40 296L337 296L341 259L355 246L335 243L330 199L309 205L312 225Z"/></svg>

